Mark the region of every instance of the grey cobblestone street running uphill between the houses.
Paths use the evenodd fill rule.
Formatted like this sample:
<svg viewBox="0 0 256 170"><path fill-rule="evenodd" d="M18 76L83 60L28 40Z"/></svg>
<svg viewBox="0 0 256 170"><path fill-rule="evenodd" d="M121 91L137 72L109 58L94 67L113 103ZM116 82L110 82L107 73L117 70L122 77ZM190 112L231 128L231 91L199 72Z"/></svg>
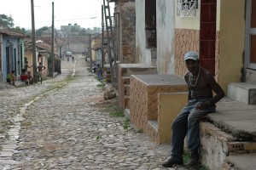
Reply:
<svg viewBox="0 0 256 170"><path fill-rule="evenodd" d="M167 169L169 145L99 109L103 91L82 56L61 68L43 84L0 90L0 169Z"/></svg>

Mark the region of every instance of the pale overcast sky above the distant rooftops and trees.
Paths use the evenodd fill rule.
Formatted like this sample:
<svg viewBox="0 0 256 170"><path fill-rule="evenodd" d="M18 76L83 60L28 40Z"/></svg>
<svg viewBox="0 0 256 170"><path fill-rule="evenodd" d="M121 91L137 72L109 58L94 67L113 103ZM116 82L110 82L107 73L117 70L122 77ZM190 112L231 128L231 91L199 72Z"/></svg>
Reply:
<svg viewBox="0 0 256 170"><path fill-rule="evenodd" d="M103 0L33 0L36 29L51 26L54 3L55 28L78 24L84 28L102 27ZM113 3L110 9L113 15ZM0 14L12 16L15 26L31 29L31 0L7 0L0 5Z"/></svg>

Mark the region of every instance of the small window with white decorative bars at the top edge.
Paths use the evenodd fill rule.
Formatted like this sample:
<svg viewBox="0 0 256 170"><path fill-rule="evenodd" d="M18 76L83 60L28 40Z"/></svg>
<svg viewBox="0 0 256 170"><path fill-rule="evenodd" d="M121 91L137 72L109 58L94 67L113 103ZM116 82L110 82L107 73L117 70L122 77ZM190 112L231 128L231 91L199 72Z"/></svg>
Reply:
<svg viewBox="0 0 256 170"><path fill-rule="evenodd" d="M177 0L178 17L195 17L198 0Z"/></svg>

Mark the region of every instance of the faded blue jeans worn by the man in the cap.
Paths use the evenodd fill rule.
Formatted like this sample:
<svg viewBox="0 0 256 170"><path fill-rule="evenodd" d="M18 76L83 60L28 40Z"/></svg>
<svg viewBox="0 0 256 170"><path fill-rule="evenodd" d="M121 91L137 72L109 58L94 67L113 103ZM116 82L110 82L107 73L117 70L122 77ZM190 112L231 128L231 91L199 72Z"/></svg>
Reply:
<svg viewBox="0 0 256 170"><path fill-rule="evenodd" d="M184 138L188 134L190 152L197 151L200 144L199 118L216 111L216 106L203 110L195 110L195 106L209 99L191 99L172 122L172 159L183 161Z"/></svg>

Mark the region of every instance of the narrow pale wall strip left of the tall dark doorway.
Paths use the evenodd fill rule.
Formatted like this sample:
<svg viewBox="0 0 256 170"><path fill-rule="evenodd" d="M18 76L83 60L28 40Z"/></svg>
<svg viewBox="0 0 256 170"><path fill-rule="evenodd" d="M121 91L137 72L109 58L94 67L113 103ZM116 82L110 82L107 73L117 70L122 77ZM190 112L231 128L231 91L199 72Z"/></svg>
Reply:
<svg viewBox="0 0 256 170"><path fill-rule="evenodd" d="M137 63L147 63L145 33L145 0L136 0L136 59ZM149 64L150 63L151 59Z"/></svg>

